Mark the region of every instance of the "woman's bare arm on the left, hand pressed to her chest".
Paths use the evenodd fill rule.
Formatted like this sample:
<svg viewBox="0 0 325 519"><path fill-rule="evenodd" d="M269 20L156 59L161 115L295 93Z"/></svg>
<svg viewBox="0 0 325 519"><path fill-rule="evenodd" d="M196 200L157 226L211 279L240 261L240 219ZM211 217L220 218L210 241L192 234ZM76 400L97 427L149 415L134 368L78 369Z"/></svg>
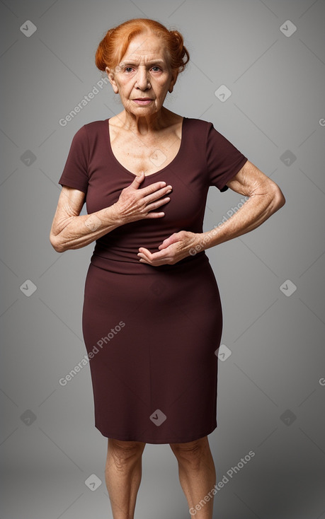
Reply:
<svg viewBox="0 0 325 519"><path fill-rule="evenodd" d="M118 226L143 218L161 218L164 212L158 209L170 198L171 185L155 182L139 189L144 173L135 177L132 184L122 189L118 202L92 214L80 215L84 204L84 192L63 186L57 210L52 221L50 243L57 252L80 249L113 231Z"/></svg>

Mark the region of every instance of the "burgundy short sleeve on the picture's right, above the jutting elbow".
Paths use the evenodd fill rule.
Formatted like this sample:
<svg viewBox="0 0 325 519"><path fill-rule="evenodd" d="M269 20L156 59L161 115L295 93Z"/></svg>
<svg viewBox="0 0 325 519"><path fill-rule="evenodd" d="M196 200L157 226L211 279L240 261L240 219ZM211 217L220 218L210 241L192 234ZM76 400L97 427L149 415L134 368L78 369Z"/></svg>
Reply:
<svg viewBox="0 0 325 519"><path fill-rule="evenodd" d="M206 158L210 185L216 186L220 191L227 191L227 182L247 161L231 142L217 132L212 122L207 127Z"/></svg>

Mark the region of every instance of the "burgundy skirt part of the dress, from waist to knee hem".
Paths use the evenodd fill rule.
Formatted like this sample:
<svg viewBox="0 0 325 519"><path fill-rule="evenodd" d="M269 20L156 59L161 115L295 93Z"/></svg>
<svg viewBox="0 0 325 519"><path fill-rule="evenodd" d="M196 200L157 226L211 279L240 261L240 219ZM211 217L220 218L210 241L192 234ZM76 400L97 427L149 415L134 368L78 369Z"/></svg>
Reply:
<svg viewBox="0 0 325 519"><path fill-rule="evenodd" d="M187 260L89 265L82 325L107 438L185 443L217 427L222 307L207 256Z"/></svg>

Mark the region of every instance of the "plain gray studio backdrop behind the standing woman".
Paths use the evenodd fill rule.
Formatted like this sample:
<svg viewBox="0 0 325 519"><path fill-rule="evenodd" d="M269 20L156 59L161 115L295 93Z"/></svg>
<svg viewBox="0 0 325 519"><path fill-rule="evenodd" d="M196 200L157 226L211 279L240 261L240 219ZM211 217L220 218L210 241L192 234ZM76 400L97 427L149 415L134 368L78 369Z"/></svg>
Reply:
<svg viewBox="0 0 325 519"><path fill-rule="evenodd" d="M190 52L166 106L212 121L287 199L208 251L224 309L214 517L324 519L325 1L6 0L0 13L0 518L111 517L89 367L59 383L86 354L94 244L59 255L48 235L72 137L121 110L94 65L98 42L146 17L181 30ZM210 189L205 230L240 199ZM169 445L147 444L136 517L188 516Z"/></svg>

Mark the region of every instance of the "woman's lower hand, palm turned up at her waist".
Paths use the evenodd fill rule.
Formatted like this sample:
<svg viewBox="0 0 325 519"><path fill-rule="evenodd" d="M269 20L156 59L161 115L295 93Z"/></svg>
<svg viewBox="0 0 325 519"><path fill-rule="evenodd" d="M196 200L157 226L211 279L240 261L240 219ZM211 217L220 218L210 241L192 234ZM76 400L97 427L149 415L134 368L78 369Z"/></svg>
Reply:
<svg viewBox="0 0 325 519"><path fill-rule="evenodd" d="M200 243L200 236L199 233L190 233L190 231L173 233L159 245L159 252L152 253L144 247L139 247L139 261L153 267L173 265L191 255L190 250L195 250L195 245Z"/></svg>

